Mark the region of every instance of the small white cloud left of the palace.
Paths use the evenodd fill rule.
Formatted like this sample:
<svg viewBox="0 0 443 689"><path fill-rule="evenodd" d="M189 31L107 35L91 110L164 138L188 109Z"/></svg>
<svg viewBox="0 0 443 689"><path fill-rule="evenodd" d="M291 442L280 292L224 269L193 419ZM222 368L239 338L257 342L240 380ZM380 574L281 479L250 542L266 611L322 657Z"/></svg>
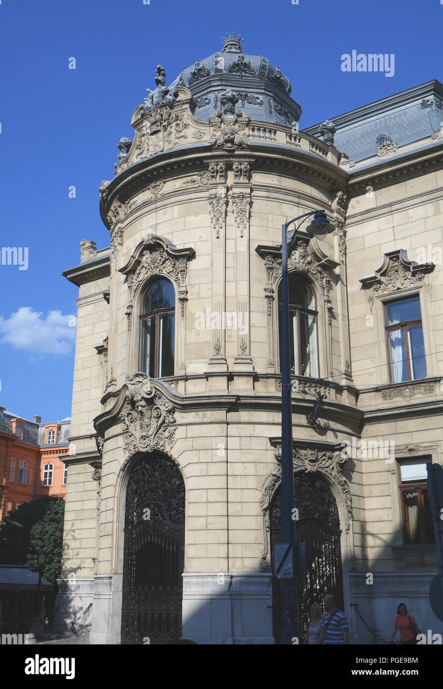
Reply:
<svg viewBox="0 0 443 689"><path fill-rule="evenodd" d="M0 342L34 354L70 354L75 339L75 327L70 327L72 316L61 311L42 311L21 307L9 318L0 316Z"/></svg>

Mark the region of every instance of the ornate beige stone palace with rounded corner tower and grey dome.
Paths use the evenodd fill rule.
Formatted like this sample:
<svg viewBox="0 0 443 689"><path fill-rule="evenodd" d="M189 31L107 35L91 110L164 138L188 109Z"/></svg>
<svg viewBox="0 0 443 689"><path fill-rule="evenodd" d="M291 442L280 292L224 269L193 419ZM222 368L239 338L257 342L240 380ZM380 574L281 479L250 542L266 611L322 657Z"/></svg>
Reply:
<svg viewBox="0 0 443 689"><path fill-rule="evenodd" d="M281 225L289 258L299 628L335 593L351 640L422 629L442 463L443 87L300 130L280 68L223 50L156 88L81 241L58 622L94 644L274 644ZM368 573L372 575L368 577ZM298 610L298 613L297 613Z"/></svg>

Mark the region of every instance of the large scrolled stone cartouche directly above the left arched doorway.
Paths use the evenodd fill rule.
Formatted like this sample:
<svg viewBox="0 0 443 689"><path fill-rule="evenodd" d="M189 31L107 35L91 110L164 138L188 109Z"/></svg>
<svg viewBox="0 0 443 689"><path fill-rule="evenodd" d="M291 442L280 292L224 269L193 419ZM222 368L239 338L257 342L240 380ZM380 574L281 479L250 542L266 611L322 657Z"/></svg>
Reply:
<svg viewBox="0 0 443 689"><path fill-rule="evenodd" d="M127 381L127 401L119 418L127 458L138 452L169 451L174 444L174 406L143 373Z"/></svg>

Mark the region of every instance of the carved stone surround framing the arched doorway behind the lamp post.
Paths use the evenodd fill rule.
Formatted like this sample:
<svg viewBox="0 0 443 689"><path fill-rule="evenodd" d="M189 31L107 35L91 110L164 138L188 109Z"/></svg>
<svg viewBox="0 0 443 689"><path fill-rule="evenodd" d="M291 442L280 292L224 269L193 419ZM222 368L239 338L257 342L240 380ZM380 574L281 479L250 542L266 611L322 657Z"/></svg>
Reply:
<svg viewBox="0 0 443 689"><path fill-rule="evenodd" d="M281 483L282 467L281 467L281 449L278 448L276 452L277 466L271 472L271 475L265 482L262 490L262 498L260 507L262 510L262 532L263 532L263 549L260 556L259 569L261 572L268 572L271 568L269 562L269 507L274 493ZM338 451L322 451L318 449L309 448L294 448L293 449L293 471L305 471L307 473L322 474L329 484L335 485L342 494L342 500L347 512L345 521L346 533L349 533L351 520L353 519L352 497L349 483L342 474L341 466L347 461L346 455Z"/></svg>

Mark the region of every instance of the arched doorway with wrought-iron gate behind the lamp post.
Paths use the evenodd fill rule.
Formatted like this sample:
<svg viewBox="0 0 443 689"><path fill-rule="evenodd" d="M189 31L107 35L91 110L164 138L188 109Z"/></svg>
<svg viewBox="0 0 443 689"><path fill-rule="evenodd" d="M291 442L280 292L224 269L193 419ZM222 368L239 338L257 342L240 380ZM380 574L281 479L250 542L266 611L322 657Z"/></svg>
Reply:
<svg viewBox="0 0 443 689"><path fill-rule="evenodd" d="M293 488L299 515L294 522L296 542L305 544L306 575L298 582L298 615L302 633L306 634L309 608L313 603L322 605L327 593L333 593L338 607L343 609L340 519L331 489L318 473L295 473ZM274 556L274 543L281 541L280 514L278 486L269 508L271 557ZM272 594L274 637L276 644L280 644L281 601L276 579L273 579Z"/></svg>

